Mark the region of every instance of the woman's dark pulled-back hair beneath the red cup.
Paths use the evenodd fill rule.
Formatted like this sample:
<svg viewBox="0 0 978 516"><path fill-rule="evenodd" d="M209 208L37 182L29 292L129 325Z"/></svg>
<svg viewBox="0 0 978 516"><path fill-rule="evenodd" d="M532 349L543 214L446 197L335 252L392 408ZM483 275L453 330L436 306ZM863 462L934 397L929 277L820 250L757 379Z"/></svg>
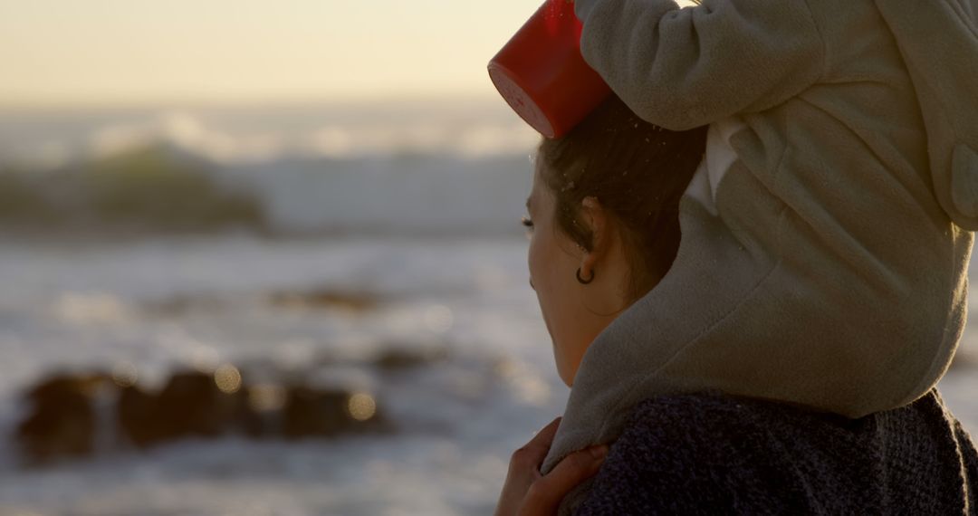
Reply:
<svg viewBox="0 0 978 516"><path fill-rule="evenodd" d="M676 258L679 200L703 158L706 129L663 129L612 93L567 135L544 138L537 149L560 231L592 249L591 230L577 221L581 201L592 195L620 223L631 301L661 280Z"/></svg>

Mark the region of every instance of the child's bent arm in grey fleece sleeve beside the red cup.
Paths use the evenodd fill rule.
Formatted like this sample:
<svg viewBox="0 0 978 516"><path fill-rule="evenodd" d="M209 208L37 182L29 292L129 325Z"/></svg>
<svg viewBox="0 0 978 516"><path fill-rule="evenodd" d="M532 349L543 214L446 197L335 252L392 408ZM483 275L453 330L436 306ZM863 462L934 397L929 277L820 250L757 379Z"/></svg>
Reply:
<svg viewBox="0 0 978 516"><path fill-rule="evenodd" d="M771 108L822 75L805 0L576 0L581 54L645 120L686 130Z"/></svg>

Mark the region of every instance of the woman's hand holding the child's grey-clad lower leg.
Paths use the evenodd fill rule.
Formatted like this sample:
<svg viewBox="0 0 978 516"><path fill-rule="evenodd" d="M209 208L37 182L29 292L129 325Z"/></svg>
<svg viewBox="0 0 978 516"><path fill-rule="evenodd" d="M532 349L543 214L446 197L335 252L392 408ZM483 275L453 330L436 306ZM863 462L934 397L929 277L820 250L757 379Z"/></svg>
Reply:
<svg viewBox="0 0 978 516"><path fill-rule="evenodd" d="M603 445L573 452L558 462L547 476L540 473L540 465L550 452L559 424L557 417L526 446L512 453L510 472L499 496L496 516L556 514L564 495L598 473L608 450Z"/></svg>

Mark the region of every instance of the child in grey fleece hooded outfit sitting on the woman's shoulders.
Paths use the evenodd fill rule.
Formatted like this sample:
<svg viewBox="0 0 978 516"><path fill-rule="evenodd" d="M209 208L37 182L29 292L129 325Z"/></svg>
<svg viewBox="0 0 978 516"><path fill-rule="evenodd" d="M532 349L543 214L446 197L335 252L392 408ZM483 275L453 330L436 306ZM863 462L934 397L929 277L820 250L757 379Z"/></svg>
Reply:
<svg viewBox="0 0 978 516"><path fill-rule="evenodd" d="M978 228L969 1L577 0L636 114L711 127L673 268L589 348L545 473L657 394L859 417L937 383Z"/></svg>

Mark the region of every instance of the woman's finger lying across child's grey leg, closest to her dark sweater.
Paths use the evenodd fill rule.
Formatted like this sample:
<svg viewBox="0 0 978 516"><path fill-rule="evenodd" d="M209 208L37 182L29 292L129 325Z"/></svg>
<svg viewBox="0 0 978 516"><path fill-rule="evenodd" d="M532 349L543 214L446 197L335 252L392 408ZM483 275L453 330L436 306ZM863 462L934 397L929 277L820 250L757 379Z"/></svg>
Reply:
<svg viewBox="0 0 978 516"><path fill-rule="evenodd" d="M607 446L573 452L560 460L553 471L530 486L519 514L554 514L564 495L598 473Z"/></svg>

